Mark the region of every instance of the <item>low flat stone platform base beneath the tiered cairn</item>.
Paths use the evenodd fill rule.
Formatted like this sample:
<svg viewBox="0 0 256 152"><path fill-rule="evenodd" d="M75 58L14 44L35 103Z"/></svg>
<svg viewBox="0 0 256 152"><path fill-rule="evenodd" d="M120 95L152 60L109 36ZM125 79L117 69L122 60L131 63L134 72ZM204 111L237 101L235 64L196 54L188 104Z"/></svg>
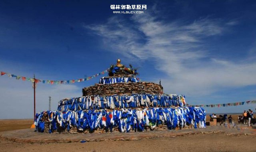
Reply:
<svg viewBox="0 0 256 152"><path fill-rule="evenodd" d="M144 132L129 133L94 133L94 134L45 134L34 132L34 129L22 129L14 131L0 132L0 138L22 143L51 143L51 142L80 142L82 140L91 141L111 141L111 140L140 140L144 138L161 138L186 136L187 134L211 134L223 133L227 136L256 135L254 129L238 130L236 128L225 128L223 126L209 126L200 129L183 130L153 130Z"/></svg>

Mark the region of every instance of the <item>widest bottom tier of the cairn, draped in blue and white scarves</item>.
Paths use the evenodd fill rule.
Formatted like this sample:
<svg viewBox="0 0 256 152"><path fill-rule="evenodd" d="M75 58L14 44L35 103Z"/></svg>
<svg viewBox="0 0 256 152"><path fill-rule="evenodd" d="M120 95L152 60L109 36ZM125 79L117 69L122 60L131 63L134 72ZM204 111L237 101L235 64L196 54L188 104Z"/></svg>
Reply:
<svg viewBox="0 0 256 152"><path fill-rule="evenodd" d="M205 128L202 108L137 108L122 110L46 111L36 114L39 132L137 132Z"/></svg>

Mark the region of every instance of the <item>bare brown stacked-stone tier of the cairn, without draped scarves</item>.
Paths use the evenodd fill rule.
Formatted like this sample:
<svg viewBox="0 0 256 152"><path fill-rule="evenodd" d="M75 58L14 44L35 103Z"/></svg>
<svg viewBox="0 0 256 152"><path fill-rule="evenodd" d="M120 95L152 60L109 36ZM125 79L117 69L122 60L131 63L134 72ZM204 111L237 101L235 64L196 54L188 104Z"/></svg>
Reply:
<svg viewBox="0 0 256 152"><path fill-rule="evenodd" d="M82 89L83 96L100 95L122 95L122 94L160 94L159 84L152 82L136 83L114 83L114 84L95 84Z"/></svg>

